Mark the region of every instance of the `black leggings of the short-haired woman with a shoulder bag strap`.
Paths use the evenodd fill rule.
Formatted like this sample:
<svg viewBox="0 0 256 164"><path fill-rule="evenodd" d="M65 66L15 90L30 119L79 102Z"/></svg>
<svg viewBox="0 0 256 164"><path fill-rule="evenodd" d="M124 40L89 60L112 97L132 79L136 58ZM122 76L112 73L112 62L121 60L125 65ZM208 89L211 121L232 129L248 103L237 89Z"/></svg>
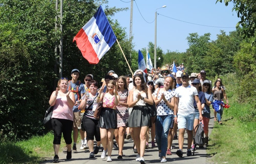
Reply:
<svg viewBox="0 0 256 164"><path fill-rule="evenodd" d="M86 140L95 140L100 141L100 128L98 127L99 120L91 119L84 115L83 117L83 125L86 131Z"/></svg>

